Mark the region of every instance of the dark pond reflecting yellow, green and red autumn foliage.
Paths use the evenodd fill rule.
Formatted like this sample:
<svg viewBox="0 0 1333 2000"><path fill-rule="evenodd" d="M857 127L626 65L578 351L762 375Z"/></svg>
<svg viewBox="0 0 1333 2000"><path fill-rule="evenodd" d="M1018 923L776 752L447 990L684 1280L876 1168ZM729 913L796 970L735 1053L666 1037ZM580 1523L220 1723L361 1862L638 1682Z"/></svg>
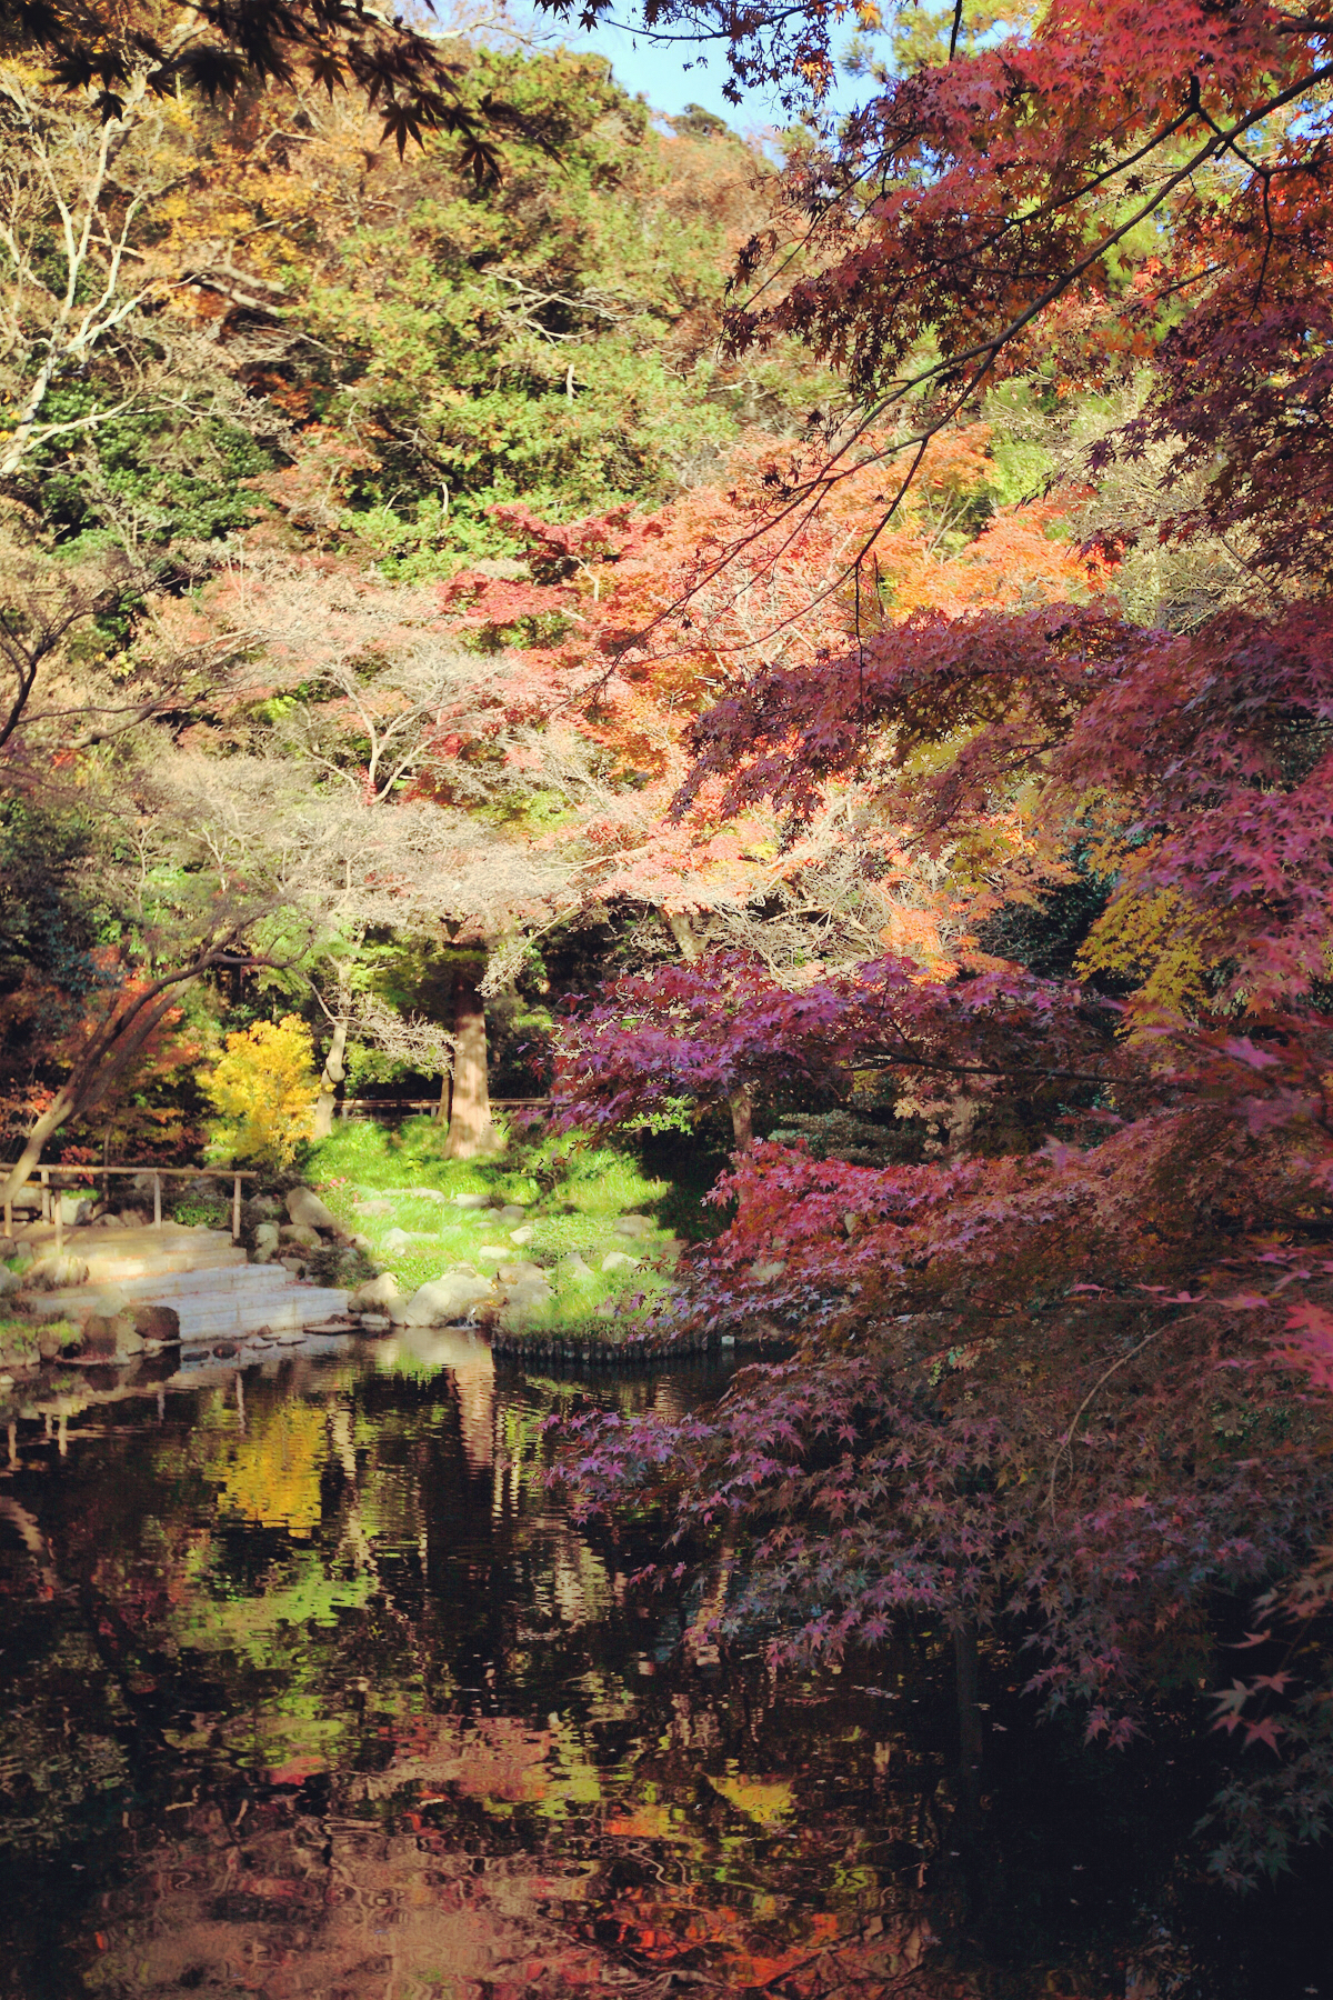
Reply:
<svg viewBox="0 0 1333 2000"><path fill-rule="evenodd" d="M1033 1728L947 1636L773 1680L544 1480L574 1398L464 1332L36 1392L0 1480L0 1994L1333 1994L1323 1862L1203 1884L1181 1736Z"/></svg>

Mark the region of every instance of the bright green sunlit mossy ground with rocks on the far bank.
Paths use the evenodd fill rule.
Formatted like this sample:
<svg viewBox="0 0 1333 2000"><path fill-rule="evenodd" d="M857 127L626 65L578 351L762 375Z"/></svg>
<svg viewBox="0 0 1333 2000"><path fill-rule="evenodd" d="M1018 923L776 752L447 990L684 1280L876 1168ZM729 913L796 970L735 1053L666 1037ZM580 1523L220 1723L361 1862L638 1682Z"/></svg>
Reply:
<svg viewBox="0 0 1333 2000"><path fill-rule="evenodd" d="M512 1144L494 1160L446 1160L444 1140L440 1126L428 1118L396 1128L348 1122L336 1126L332 1138L312 1146L306 1160L310 1184L348 1230L370 1238L374 1262L392 1270L404 1292L414 1292L454 1264L494 1274L500 1262L530 1258L548 1268L554 1296L544 1306L528 1308L522 1318L506 1316L508 1334L618 1340L666 1290L677 1238L662 1228L658 1214L671 1202L669 1180L650 1178L622 1152L586 1146L568 1136ZM358 1194L376 1196L414 1186L450 1198L488 1194L520 1202L528 1210L532 1240L512 1244L510 1228L518 1224L498 1224L494 1210L442 1208L430 1198L398 1192L388 1216L366 1216L354 1206ZM624 1214L650 1216L654 1228L632 1242L614 1228ZM386 1250L384 1240L394 1228L420 1232L430 1240ZM504 1246L506 1256L482 1256L484 1244ZM610 1250L638 1258L638 1268L604 1272L602 1258ZM592 1280L582 1284L554 1268L560 1258L576 1252L594 1268ZM630 1308L636 1294L644 1294L644 1306ZM620 1302L618 1318L598 1312L606 1302Z"/></svg>

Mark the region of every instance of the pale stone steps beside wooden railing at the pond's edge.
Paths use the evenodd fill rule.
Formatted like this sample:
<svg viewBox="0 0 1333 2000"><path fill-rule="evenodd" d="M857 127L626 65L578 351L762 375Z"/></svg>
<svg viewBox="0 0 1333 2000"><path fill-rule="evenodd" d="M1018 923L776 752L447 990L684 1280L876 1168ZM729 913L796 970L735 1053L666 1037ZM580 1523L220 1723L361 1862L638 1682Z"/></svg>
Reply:
<svg viewBox="0 0 1333 2000"><path fill-rule="evenodd" d="M88 1266L88 1284L48 1292L42 1312L78 1318L94 1292L124 1292L180 1314L180 1338L236 1340L260 1326L290 1332L348 1310L348 1294L304 1284L282 1264L250 1264L224 1230L188 1230L166 1222L160 1230L66 1230L66 1254ZM34 1244L34 1248L38 1248Z"/></svg>

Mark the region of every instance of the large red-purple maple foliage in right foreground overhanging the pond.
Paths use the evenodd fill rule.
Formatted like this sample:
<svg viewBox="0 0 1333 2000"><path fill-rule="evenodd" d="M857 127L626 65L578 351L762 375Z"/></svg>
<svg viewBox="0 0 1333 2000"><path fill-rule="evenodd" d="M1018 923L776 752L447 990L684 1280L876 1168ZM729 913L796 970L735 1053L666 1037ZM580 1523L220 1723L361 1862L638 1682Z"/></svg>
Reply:
<svg viewBox="0 0 1333 2000"><path fill-rule="evenodd" d="M1329 1822L1327 1596L1299 1586L1333 1498L1327 34L1181 0L951 46L793 164L815 266L731 318L737 346L809 340L867 414L791 454L693 592L821 532L857 482L879 500L837 556L841 636L783 658L785 608L763 606L759 664L689 728L677 812L799 832L865 786L981 916L1039 904L1081 850L1109 886L1081 978L997 966L975 930L947 970L889 958L797 990L719 956L616 982L562 1054L570 1122L747 1080L847 1102L875 1070L903 1122L933 1104L947 1130L943 1158L905 1134L877 1170L737 1158L735 1220L662 1326L779 1332L793 1360L687 1420L588 1422L588 1504L656 1496L681 1554L729 1576L719 1628L757 1618L779 1656L943 1614L965 1762L979 1640L1025 1642L1031 1690L1119 1742L1163 1688L1207 1688L1247 1600L1303 1604L1299 1698L1279 1672L1221 1708L1237 1748L1289 1750L1273 1782L1241 1754L1221 1794L1215 1864L1239 1878ZM881 600L877 546L987 384L1135 374L1087 470L1153 448L1167 476L1155 520L1097 546L1211 540L1249 602L1219 592L1171 630L1087 592Z"/></svg>

